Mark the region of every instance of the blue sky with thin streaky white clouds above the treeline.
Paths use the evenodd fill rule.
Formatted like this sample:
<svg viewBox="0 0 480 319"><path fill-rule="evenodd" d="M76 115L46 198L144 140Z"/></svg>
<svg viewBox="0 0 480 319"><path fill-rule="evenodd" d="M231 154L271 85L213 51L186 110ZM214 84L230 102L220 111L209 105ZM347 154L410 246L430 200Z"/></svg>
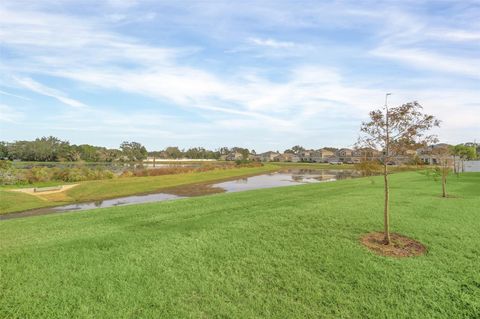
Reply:
<svg viewBox="0 0 480 319"><path fill-rule="evenodd" d="M0 1L0 140L351 147L418 101L480 141L480 1Z"/></svg>

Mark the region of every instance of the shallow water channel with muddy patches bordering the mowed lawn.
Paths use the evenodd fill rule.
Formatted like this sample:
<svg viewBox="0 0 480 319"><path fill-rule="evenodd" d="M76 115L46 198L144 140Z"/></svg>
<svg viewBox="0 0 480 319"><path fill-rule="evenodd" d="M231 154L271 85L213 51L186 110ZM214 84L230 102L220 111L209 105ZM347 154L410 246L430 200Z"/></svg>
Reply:
<svg viewBox="0 0 480 319"><path fill-rule="evenodd" d="M0 220L54 213L66 213L72 211L82 211L94 208L162 202L172 199L190 197L192 195L198 196L202 194L210 194L212 193L212 189L216 190L216 192L231 193L262 188L282 187L319 182L332 182L340 179L349 179L359 176L360 175L353 170L290 169L269 174L237 178L222 183L212 183L207 185L186 185L184 187L177 187L174 190L166 190L162 193L126 196L95 202L34 209L25 212L0 215ZM175 193L180 193L182 194L182 196L179 196Z"/></svg>

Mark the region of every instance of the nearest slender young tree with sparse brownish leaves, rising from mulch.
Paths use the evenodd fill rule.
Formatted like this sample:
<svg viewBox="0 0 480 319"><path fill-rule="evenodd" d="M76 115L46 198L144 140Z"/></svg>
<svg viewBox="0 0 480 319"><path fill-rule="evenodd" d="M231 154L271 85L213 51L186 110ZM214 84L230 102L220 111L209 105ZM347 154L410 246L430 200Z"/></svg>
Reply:
<svg viewBox="0 0 480 319"><path fill-rule="evenodd" d="M425 133L440 125L433 115L423 114L422 106L416 101L389 109L389 95L390 93L385 96L384 110L371 111L370 120L362 123L362 135L357 143L359 146L383 151L385 245L390 244L388 164L397 154L435 142L436 136Z"/></svg>

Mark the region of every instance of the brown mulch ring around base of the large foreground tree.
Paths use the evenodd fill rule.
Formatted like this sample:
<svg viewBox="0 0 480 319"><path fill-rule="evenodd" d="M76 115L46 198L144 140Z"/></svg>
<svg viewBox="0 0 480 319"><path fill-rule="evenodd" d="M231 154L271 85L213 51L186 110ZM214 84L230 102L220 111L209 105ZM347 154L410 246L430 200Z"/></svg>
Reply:
<svg viewBox="0 0 480 319"><path fill-rule="evenodd" d="M390 234L390 245L383 243L383 232L369 233L360 239L374 253L391 257L413 257L425 254L427 248L420 242L400 234Z"/></svg>

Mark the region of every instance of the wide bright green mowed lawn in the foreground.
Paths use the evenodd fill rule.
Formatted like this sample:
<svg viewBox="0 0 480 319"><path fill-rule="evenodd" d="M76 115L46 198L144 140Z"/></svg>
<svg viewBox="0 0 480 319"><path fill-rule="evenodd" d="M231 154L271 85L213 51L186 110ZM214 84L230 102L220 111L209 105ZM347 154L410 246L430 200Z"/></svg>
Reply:
<svg viewBox="0 0 480 319"><path fill-rule="evenodd" d="M1 318L479 318L480 174L381 177L0 222ZM372 182L373 181L373 182Z"/></svg>

